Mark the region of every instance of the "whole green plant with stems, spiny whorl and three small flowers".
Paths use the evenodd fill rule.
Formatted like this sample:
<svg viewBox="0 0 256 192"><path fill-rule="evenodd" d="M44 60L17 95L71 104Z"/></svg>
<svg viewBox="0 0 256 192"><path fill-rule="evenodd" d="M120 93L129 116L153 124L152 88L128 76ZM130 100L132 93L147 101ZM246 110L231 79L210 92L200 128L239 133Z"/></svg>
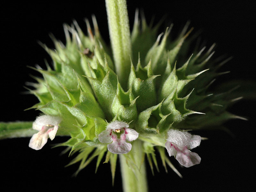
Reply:
<svg viewBox="0 0 256 192"><path fill-rule="evenodd" d="M68 135L56 146L76 155L69 164L80 162L76 174L97 158L96 170L109 162L114 181L119 154L124 191L145 192L145 157L152 173L160 154L165 169L167 164L181 177L171 161L176 158L185 167L201 161L190 149L204 138L193 130L244 119L226 111L242 97L230 98L234 89L209 91L225 74L217 70L230 58L212 60L214 45L193 47L196 34L188 24L171 41L172 25L159 35L160 23L148 26L144 17L140 22L137 11L130 34L126 1L106 0L106 7L111 48L95 16L93 28L85 20L87 36L76 21L65 24L66 45L53 36L54 50L42 44L53 69L47 63L47 70L37 66L43 78L34 77L38 83L29 84L39 100L29 109L41 115L35 115L35 122L0 123L0 138L32 136L29 147L39 150L48 138Z"/></svg>

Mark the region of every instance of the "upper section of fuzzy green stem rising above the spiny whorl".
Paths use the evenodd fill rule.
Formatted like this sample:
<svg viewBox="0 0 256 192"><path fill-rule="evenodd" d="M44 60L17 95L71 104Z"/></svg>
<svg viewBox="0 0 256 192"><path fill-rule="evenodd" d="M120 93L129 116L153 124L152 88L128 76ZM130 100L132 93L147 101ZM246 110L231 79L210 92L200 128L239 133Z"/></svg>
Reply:
<svg viewBox="0 0 256 192"><path fill-rule="evenodd" d="M106 0L108 29L116 74L124 89L130 74L132 44L126 0Z"/></svg>

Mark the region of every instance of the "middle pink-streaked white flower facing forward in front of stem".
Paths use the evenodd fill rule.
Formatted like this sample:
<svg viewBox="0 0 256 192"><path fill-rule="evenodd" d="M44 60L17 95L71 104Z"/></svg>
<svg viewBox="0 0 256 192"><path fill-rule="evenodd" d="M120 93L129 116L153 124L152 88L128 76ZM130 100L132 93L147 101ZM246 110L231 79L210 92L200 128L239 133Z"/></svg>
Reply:
<svg viewBox="0 0 256 192"><path fill-rule="evenodd" d="M139 137L139 133L133 129L128 128L129 125L122 121L113 121L107 125L106 130L99 134L99 140L101 143L108 144L108 150L115 154L128 153L132 149L132 144L127 141L136 140ZM116 133L121 133L120 138Z"/></svg>

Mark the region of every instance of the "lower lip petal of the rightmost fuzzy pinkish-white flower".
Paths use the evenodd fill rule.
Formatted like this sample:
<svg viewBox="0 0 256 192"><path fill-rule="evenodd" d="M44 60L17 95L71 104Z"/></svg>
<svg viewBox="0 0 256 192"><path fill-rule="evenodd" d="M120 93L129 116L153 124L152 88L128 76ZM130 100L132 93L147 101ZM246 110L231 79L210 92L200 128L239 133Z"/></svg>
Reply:
<svg viewBox="0 0 256 192"><path fill-rule="evenodd" d="M189 151L186 146L182 151L177 151L176 159L184 167L191 167L201 162L201 157L197 153Z"/></svg>

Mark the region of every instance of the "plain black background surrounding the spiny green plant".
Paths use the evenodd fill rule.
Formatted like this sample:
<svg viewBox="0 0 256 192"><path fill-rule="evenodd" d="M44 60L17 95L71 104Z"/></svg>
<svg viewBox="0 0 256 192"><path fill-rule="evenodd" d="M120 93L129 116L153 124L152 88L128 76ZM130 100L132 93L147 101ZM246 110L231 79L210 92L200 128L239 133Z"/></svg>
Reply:
<svg viewBox="0 0 256 192"><path fill-rule="evenodd" d="M253 2L253 1L252 1ZM136 8L143 8L148 21L155 15L156 21L166 13L167 20L174 23L178 31L187 20L191 26L203 29L202 39L208 47L216 42L216 55L226 53L233 56L222 69L231 73L222 77L225 80L255 80L255 4L250 1L128 1L128 14L131 26ZM102 36L108 40L107 15L104 1L82 1L79 3L24 3L9 1L2 6L1 39L1 107L0 121L33 121L37 111L23 111L37 102L32 95L21 94L25 91L26 81L33 81L28 74L36 74L26 66L39 64L44 66L44 58L50 62L47 53L37 44L42 41L53 47L48 34L52 32L64 41L63 23L70 24L76 19L85 30L85 17L94 13L98 20ZM176 28L176 29L175 29ZM217 82L218 83L218 82ZM216 84L217 84L216 83ZM249 118L249 121L232 120L225 125L232 135L224 131L196 132L209 140L202 141L200 147L193 150L201 156L201 164L181 168L171 157L172 163L183 175L180 179L171 169L165 173L158 158L160 173L155 170L152 176L149 166L149 191L224 191L240 189L250 190L255 172L255 102L243 100L229 111ZM57 190L70 191L73 188L85 191L121 190L121 175L117 166L115 186L111 186L109 164L100 164L94 174L96 162L78 174L72 174L78 164L64 168L72 159L60 156L64 148L50 149L52 143L67 138L55 138L43 149L35 151L28 148L29 138L0 141L1 188L20 191ZM158 154L157 154L158 155ZM35 188L36 187L36 188Z"/></svg>

